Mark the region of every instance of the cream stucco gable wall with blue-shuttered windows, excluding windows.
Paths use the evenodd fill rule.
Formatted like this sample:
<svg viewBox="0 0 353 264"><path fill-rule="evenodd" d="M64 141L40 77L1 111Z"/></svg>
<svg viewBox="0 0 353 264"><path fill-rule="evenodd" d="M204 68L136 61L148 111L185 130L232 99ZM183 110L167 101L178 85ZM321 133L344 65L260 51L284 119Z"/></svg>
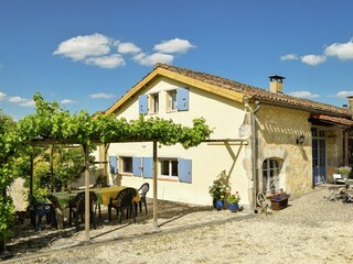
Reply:
<svg viewBox="0 0 353 264"><path fill-rule="evenodd" d="M167 112L167 91L172 88L188 87L190 89L189 111ZM148 84L148 88L141 94L159 92L159 113L148 117L172 119L175 123L192 125L192 119L205 118L210 128L214 129L211 139L237 139L238 129L245 117L245 110L238 102L185 86L167 78L156 78ZM137 119L139 117L138 96L125 103L117 112L118 118ZM119 143L110 144L108 155L117 156L152 156L152 143ZM158 148L159 157L182 157L192 160L192 184L158 180L158 197L165 200L211 205L208 186L216 176L226 170L231 174L232 190L238 190L242 195L242 204L248 204L248 179L244 168L244 160L250 157L250 151L239 143L202 143L197 147L184 150L180 144L175 146L162 146ZM152 196L152 180L136 177L120 177L121 185L139 187L142 183L150 183L149 196Z"/></svg>

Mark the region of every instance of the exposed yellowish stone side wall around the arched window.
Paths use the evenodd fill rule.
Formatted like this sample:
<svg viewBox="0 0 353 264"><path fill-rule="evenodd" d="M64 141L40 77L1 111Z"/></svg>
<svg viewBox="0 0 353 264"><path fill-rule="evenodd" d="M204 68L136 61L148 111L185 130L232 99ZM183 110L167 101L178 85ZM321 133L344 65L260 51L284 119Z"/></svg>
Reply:
<svg viewBox="0 0 353 264"><path fill-rule="evenodd" d="M312 188L311 124L309 113L272 106L261 106L257 112L258 178L263 190L263 163L275 158L280 163L279 188L301 195ZM303 144L297 139L304 135Z"/></svg>

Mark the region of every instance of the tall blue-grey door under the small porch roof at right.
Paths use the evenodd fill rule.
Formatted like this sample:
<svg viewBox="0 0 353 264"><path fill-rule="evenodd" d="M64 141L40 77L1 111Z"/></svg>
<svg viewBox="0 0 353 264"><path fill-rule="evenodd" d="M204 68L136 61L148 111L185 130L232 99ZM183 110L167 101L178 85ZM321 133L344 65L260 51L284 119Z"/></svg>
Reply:
<svg viewBox="0 0 353 264"><path fill-rule="evenodd" d="M314 185L327 179L327 142L319 129L312 129L312 177Z"/></svg>

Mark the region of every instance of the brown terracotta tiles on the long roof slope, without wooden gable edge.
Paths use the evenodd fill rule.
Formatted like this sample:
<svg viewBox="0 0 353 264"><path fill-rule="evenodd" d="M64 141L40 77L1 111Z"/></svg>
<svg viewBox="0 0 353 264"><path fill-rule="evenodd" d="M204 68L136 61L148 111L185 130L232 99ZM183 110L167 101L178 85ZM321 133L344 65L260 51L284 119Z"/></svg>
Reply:
<svg viewBox="0 0 353 264"><path fill-rule="evenodd" d="M297 97L288 96L285 94L270 92L263 88L245 85L235 80L231 80L231 79L211 75L211 74L200 73L200 72L195 72L186 68L180 68L180 67L175 67L167 64L157 64L156 67L162 67L164 69L204 81L206 84L211 84L224 89L242 92L243 95L246 95L248 97L254 98L255 100L259 100L263 102L291 106L291 107L309 110L312 112L325 112L334 116L343 114L350 118L353 114L353 112L346 108L340 108L340 107L321 103L321 102L317 102L308 99L297 98Z"/></svg>

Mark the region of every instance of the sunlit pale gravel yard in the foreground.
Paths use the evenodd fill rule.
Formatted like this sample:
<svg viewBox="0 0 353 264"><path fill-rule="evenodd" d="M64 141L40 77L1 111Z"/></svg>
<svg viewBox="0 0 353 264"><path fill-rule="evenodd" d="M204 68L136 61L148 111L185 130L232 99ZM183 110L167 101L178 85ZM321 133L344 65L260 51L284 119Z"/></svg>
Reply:
<svg viewBox="0 0 353 264"><path fill-rule="evenodd" d="M353 204L327 201L327 194L315 189L268 215L15 263L353 263Z"/></svg>

